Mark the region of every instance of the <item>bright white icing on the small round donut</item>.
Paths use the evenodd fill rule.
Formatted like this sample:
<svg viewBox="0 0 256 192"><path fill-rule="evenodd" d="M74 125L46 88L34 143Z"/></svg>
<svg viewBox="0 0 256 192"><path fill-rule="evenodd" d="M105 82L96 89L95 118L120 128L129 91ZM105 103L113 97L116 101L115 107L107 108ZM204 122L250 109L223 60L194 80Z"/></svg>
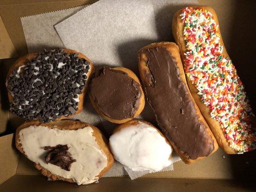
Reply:
<svg viewBox="0 0 256 192"><path fill-rule="evenodd" d="M171 165L171 146L144 122L112 134L110 149L117 161L134 171L156 172Z"/></svg>

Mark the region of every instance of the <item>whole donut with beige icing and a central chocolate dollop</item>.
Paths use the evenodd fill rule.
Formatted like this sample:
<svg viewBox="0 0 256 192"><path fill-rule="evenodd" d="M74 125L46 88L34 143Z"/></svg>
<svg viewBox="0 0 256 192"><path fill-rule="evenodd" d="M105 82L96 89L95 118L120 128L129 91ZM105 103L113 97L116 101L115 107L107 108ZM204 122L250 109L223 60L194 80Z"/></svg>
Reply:
<svg viewBox="0 0 256 192"><path fill-rule="evenodd" d="M114 163L102 133L80 121L26 121L16 130L15 144L50 180L93 183Z"/></svg>

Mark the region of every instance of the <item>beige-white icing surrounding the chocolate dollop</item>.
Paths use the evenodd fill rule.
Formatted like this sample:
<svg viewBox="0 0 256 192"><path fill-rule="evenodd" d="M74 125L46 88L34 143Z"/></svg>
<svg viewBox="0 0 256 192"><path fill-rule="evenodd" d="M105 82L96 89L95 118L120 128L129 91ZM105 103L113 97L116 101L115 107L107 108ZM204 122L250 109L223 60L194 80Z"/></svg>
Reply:
<svg viewBox="0 0 256 192"><path fill-rule="evenodd" d="M95 137L93 129L85 127L78 130L50 129L44 126L30 126L19 132L20 143L25 155L35 163L51 173L63 178L73 179L78 185L88 184L98 180L98 174L107 166L107 157L102 152ZM51 163L46 164L44 156L45 146L68 144L69 152L76 162L71 164L70 171Z"/></svg>

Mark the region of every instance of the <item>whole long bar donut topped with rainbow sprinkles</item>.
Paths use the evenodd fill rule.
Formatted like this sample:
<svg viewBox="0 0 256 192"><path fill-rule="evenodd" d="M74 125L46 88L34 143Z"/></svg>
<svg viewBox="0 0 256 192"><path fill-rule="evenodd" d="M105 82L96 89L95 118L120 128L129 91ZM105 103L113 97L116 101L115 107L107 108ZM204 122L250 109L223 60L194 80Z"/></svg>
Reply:
<svg viewBox="0 0 256 192"><path fill-rule="evenodd" d="M192 96L227 154L256 148L255 115L227 53L215 11L186 7L172 19Z"/></svg>

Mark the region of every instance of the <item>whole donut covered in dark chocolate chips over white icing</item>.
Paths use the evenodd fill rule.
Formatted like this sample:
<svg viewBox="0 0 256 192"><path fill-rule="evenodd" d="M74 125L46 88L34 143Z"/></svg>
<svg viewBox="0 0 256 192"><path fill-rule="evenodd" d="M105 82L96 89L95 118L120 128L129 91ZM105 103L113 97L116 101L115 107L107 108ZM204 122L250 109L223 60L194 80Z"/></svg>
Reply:
<svg viewBox="0 0 256 192"><path fill-rule="evenodd" d="M93 63L71 49L53 49L19 58L6 86L10 111L27 120L66 119L83 109Z"/></svg>

